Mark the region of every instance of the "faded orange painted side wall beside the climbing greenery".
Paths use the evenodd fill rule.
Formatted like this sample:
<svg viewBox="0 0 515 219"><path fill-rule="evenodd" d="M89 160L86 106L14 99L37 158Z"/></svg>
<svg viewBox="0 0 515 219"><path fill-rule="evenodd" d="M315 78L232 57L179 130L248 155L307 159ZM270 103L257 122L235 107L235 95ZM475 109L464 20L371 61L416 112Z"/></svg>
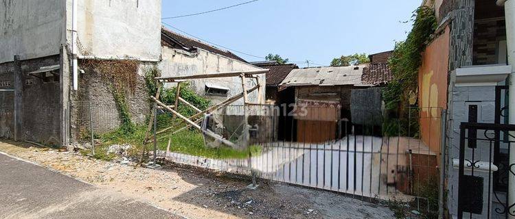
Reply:
<svg viewBox="0 0 515 219"><path fill-rule="evenodd" d="M441 112L447 108L449 27L426 47L418 73L420 134L431 151L440 151Z"/></svg>

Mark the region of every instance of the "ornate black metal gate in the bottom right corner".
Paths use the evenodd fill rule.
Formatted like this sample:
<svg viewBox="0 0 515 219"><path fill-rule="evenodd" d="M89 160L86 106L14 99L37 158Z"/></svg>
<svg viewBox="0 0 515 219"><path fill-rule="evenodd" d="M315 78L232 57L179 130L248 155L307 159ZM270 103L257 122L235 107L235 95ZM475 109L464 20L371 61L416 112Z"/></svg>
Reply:
<svg viewBox="0 0 515 219"><path fill-rule="evenodd" d="M458 218L510 218L515 216L515 203L510 203L509 177L515 173L507 156L494 160L496 147L505 144L510 153L510 138L500 133L515 131L515 125L461 123L459 139ZM499 172L494 177L493 172Z"/></svg>

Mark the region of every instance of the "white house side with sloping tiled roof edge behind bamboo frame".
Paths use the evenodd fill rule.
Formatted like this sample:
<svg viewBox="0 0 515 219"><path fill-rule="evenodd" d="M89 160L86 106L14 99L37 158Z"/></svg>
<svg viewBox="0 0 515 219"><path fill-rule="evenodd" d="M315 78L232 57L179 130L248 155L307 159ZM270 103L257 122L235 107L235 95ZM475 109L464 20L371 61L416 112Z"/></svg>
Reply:
<svg viewBox="0 0 515 219"><path fill-rule="evenodd" d="M262 69L229 51L165 28L161 29L161 46L163 60L159 64L159 69L162 77ZM260 75L259 80L264 85L266 76ZM188 83L197 94L214 104L242 92L242 82L239 77L195 79ZM252 83L255 83L255 80L247 79L248 87L255 86ZM167 86L173 85L167 84ZM264 98L265 92L262 92L261 99L264 100ZM258 99L258 92L249 94L249 101L257 103ZM231 105L243 105L243 102L240 100Z"/></svg>

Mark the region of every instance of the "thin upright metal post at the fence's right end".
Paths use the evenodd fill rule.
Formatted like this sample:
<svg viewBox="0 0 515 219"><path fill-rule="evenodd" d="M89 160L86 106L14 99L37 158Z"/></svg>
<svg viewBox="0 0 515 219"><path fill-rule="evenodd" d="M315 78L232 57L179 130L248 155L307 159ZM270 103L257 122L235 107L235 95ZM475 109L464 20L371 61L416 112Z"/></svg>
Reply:
<svg viewBox="0 0 515 219"><path fill-rule="evenodd" d="M444 218L444 183L445 183L445 157L446 157L446 136L447 136L447 110L442 109L440 116L442 126L440 140L440 182L438 188L438 218Z"/></svg>

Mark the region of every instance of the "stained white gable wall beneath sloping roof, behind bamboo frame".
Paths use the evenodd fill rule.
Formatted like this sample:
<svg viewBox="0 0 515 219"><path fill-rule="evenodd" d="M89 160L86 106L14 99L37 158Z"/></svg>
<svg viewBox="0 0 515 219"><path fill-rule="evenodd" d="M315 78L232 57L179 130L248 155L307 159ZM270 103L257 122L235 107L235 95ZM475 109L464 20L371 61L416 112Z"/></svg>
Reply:
<svg viewBox="0 0 515 219"><path fill-rule="evenodd" d="M198 53L188 53L186 51L170 49L163 47L163 61L159 64L163 77L198 75L207 73L218 73L236 70L258 70L256 66L233 60L229 57L211 53L202 49L198 49ZM255 82L255 80L253 80ZM265 75L260 75L260 81L263 86L266 84ZM229 88L228 96L234 96L242 92L242 83L240 77L198 79L190 81L190 84L197 94L205 94L205 83L213 83L218 86ZM174 83L168 83L167 86L174 86ZM255 86L249 79L247 88ZM213 103L219 103L227 99L226 97L206 96ZM262 92L262 99L265 98L265 92ZM256 103L258 101L258 90L249 94L249 101ZM240 99L233 105L243 105L243 99Z"/></svg>

